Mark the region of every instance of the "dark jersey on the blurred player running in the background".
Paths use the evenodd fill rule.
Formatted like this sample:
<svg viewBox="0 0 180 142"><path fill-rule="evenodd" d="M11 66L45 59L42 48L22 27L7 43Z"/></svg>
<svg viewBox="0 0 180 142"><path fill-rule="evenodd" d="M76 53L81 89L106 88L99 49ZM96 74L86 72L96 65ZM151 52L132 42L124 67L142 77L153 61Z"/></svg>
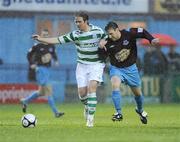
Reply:
<svg viewBox="0 0 180 142"><path fill-rule="evenodd" d="M36 64L41 66L51 66L51 60L57 61L57 55L54 45L46 45L39 43L29 49L27 53L29 64Z"/></svg>

